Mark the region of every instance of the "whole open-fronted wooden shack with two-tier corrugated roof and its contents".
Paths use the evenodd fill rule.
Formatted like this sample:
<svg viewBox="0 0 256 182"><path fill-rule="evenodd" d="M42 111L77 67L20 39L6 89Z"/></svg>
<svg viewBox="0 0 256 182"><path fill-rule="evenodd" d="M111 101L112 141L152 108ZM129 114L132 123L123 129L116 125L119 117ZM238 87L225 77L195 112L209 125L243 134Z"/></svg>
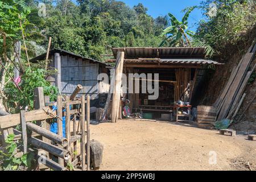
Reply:
<svg viewBox="0 0 256 182"><path fill-rule="evenodd" d="M130 47L113 48L112 52L114 59L106 60L107 63L115 63L117 53L124 52L123 73L127 79L130 80L130 73L146 75L146 78L133 78L133 85L139 81L139 92L123 94L122 113L126 118L191 121L190 102L197 82L197 72L207 65L219 64L205 59L205 47ZM148 77L148 73L152 77ZM158 79L154 78L154 73L159 74ZM146 86L143 86L142 80L146 80ZM154 81L157 80L159 95L150 99L148 96L152 93L148 92L148 81L154 87ZM129 84L127 86L130 88ZM142 92L145 87L147 92Z"/></svg>

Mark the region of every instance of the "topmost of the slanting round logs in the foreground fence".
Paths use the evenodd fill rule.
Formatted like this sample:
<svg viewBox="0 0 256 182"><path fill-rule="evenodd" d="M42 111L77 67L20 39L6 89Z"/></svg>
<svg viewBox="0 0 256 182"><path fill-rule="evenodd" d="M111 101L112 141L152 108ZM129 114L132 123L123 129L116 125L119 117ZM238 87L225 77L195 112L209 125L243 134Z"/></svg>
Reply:
<svg viewBox="0 0 256 182"><path fill-rule="evenodd" d="M27 128L30 129L31 131L34 131L35 133L40 134L43 137L46 137L49 140L52 140L53 142L61 144L61 146L63 146L63 147L68 145L68 139L67 138L64 138L60 135L52 133L51 131L46 130L43 127L35 125L31 122L27 122L26 125L27 125Z"/></svg>

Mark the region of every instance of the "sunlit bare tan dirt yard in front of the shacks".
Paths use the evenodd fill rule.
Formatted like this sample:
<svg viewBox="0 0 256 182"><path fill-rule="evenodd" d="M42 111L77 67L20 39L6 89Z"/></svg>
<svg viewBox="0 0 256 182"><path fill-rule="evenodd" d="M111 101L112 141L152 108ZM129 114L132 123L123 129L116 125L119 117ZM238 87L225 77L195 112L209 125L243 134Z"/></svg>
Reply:
<svg viewBox="0 0 256 182"><path fill-rule="evenodd" d="M256 142L245 135L130 119L90 125L90 133L104 144L101 170L256 169Z"/></svg>

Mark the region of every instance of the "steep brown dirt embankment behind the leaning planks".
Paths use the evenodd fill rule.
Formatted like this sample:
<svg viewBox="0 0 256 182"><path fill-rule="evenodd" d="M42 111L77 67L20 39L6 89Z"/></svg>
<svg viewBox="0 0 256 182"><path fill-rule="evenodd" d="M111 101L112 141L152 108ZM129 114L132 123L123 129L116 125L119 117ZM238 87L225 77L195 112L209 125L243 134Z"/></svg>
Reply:
<svg viewBox="0 0 256 182"><path fill-rule="evenodd" d="M229 80L229 76L232 73L233 69L236 68L238 62L242 59L242 56L246 53L247 49L251 46L253 41L256 38L256 27L243 35L243 39L241 42L236 45L228 46L220 56L219 61L221 63L225 63L224 65L217 65L216 70L214 72L208 72L206 77L208 77L208 82L205 84L207 90L202 94L200 98L201 105L212 106L214 102L217 100L218 96L220 96L222 90L224 89L226 83ZM250 68L254 66L256 60L250 65ZM251 77L250 84L246 86L245 93L247 94L245 97L245 101L241 106L239 113L243 113L248 104L250 107L246 110L245 114L240 122L234 123L232 126L238 131L243 131L244 133L255 133L256 132L256 98L254 98L256 94L256 79L255 72Z"/></svg>

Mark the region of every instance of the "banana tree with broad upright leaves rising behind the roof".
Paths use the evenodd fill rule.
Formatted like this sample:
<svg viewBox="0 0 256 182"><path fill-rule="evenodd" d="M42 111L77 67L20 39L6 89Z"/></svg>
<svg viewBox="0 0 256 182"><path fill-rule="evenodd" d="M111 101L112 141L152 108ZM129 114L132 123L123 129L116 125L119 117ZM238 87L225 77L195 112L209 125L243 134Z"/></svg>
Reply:
<svg viewBox="0 0 256 182"><path fill-rule="evenodd" d="M161 36L164 36L164 40L160 44L160 46L163 46L166 44L170 47L191 46L188 36L193 35L193 31L190 31L187 29L188 29L188 17L193 9L195 9L195 6L187 10L181 22L177 20L177 18L173 14L168 13L168 16L170 16L170 20L171 20L171 26L163 30L163 33Z"/></svg>

